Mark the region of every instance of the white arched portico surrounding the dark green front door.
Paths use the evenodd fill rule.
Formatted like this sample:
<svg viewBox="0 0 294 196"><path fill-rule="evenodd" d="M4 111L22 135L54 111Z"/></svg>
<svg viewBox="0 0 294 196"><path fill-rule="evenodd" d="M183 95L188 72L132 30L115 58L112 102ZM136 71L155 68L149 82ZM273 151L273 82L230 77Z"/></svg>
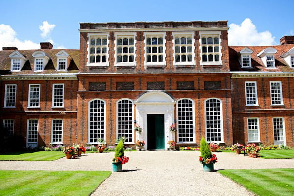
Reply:
<svg viewBox="0 0 294 196"><path fill-rule="evenodd" d="M170 95L161 91L150 91L136 101L136 123L143 128L137 132L137 140L144 140L144 150L168 149L169 140L175 140L169 127L174 124L174 104ZM149 143L149 144L148 144Z"/></svg>

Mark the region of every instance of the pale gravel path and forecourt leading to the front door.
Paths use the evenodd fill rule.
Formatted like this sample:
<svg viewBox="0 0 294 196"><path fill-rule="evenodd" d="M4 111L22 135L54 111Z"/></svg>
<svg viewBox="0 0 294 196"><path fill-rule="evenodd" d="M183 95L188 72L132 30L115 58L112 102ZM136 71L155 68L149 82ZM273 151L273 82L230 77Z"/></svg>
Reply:
<svg viewBox="0 0 294 196"><path fill-rule="evenodd" d="M125 152L130 157L123 172L113 172L91 196L253 196L218 172L203 172L200 152ZM234 153L216 153L215 170L294 168L294 159L254 159ZM114 152L83 154L56 161L0 161L0 170L109 170Z"/></svg>

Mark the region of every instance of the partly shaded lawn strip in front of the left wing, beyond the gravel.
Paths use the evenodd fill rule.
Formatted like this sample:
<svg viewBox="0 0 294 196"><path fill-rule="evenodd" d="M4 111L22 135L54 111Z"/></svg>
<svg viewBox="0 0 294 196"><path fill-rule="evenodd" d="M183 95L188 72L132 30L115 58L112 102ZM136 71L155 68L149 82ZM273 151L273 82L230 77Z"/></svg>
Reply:
<svg viewBox="0 0 294 196"><path fill-rule="evenodd" d="M0 161L54 161L64 156L61 151L9 152L0 154Z"/></svg>

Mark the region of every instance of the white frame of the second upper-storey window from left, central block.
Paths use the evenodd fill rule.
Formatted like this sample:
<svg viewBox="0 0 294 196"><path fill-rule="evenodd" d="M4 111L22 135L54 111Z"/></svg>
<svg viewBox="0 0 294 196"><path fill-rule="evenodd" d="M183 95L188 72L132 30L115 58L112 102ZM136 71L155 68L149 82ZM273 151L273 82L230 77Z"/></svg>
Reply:
<svg viewBox="0 0 294 196"><path fill-rule="evenodd" d="M114 36L115 36L115 47L114 47L114 50L115 50L115 56L114 56L114 66L122 66L122 67L135 67L136 66L136 51L137 51L137 40L136 40L136 36L137 34L136 33L129 33L129 32L125 32L125 33L114 33ZM117 40L118 39L122 39L122 42L123 42L123 38L133 38L134 39L134 61L133 62L123 62L123 55L122 55L122 62L117 62L117 55L118 55L118 45L117 45ZM127 45L129 46L129 45ZM123 52L123 45L122 45L122 52ZM123 53L122 53L123 54Z"/></svg>

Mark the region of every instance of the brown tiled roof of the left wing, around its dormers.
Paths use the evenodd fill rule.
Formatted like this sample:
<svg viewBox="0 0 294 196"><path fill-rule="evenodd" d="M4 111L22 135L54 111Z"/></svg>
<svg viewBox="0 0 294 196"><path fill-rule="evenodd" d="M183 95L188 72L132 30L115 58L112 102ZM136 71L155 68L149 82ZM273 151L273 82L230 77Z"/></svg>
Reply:
<svg viewBox="0 0 294 196"><path fill-rule="evenodd" d="M57 71L57 54L59 51L64 50L72 58L68 71ZM11 58L9 55L16 50L3 50L0 51L0 74L49 74L49 73L77 73L79 68L79 50L78 49L34 49L34 50L17 50L23 56L25 56L28 61L25 62L24 67L19 72L10 72L11 68ZM32 54L36 51L45 52L51 60L45 65L43 72L34 72L34 57Z"/></svg>

